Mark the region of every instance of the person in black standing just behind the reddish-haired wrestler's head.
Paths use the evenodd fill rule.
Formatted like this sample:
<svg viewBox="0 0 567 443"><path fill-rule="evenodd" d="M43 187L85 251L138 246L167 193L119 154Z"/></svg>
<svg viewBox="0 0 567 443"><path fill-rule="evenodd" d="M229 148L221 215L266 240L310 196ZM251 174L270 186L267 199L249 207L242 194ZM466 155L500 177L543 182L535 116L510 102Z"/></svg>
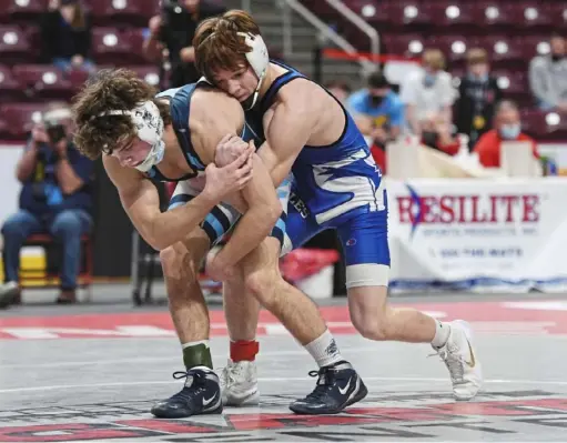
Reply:
<svg viewBox="0 0 567 443"><path fill-rule="evenodd" d="M171 63L170 88L199 80L201 75L194 66L192 47L196 27L202 20L225 11L226 8L213 1L164 0L161 14L150 19L150 37L144 41L143 51L149 60L161 63L163 50L166 50Z"/></svg>

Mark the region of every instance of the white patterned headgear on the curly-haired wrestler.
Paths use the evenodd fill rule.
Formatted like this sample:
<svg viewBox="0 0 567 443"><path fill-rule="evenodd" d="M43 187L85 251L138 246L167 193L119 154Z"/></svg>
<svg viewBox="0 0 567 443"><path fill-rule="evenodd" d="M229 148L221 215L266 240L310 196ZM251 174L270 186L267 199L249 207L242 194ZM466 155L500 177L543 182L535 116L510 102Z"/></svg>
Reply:
<svg viewBox="0 0 567 443"><path fill-rule="evenodd" d="M163 160L163 154L165 153L165 143L162 140L163 119L160 115L160 109L153 101L144 101L131 111L112 110L102 112L98 117L104 115L130 115L140 140L150 144L151 149L148 157L135 169L148 172Z"/></svg>

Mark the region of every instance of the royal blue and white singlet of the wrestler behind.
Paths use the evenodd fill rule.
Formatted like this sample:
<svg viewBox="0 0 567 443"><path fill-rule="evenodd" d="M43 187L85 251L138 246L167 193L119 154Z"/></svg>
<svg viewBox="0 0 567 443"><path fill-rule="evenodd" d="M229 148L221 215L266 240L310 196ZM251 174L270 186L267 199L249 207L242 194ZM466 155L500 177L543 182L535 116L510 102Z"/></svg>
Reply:
<svg viewBox="0 0 567 443"><path fill-rule="evenodd" d="M295 79L306 79L293 68L272 63L287 72L280 75L257 107L246 113L260 137L264 137L264 132L256 124L274 103L280 89ZM336 102L345 115L341 137L328 145L305 145L292 167L282 252L301 246L325 229L335 229L347 265L347 288L387 285L387 198L382 172L353 118L338 100Z"/></svg>

